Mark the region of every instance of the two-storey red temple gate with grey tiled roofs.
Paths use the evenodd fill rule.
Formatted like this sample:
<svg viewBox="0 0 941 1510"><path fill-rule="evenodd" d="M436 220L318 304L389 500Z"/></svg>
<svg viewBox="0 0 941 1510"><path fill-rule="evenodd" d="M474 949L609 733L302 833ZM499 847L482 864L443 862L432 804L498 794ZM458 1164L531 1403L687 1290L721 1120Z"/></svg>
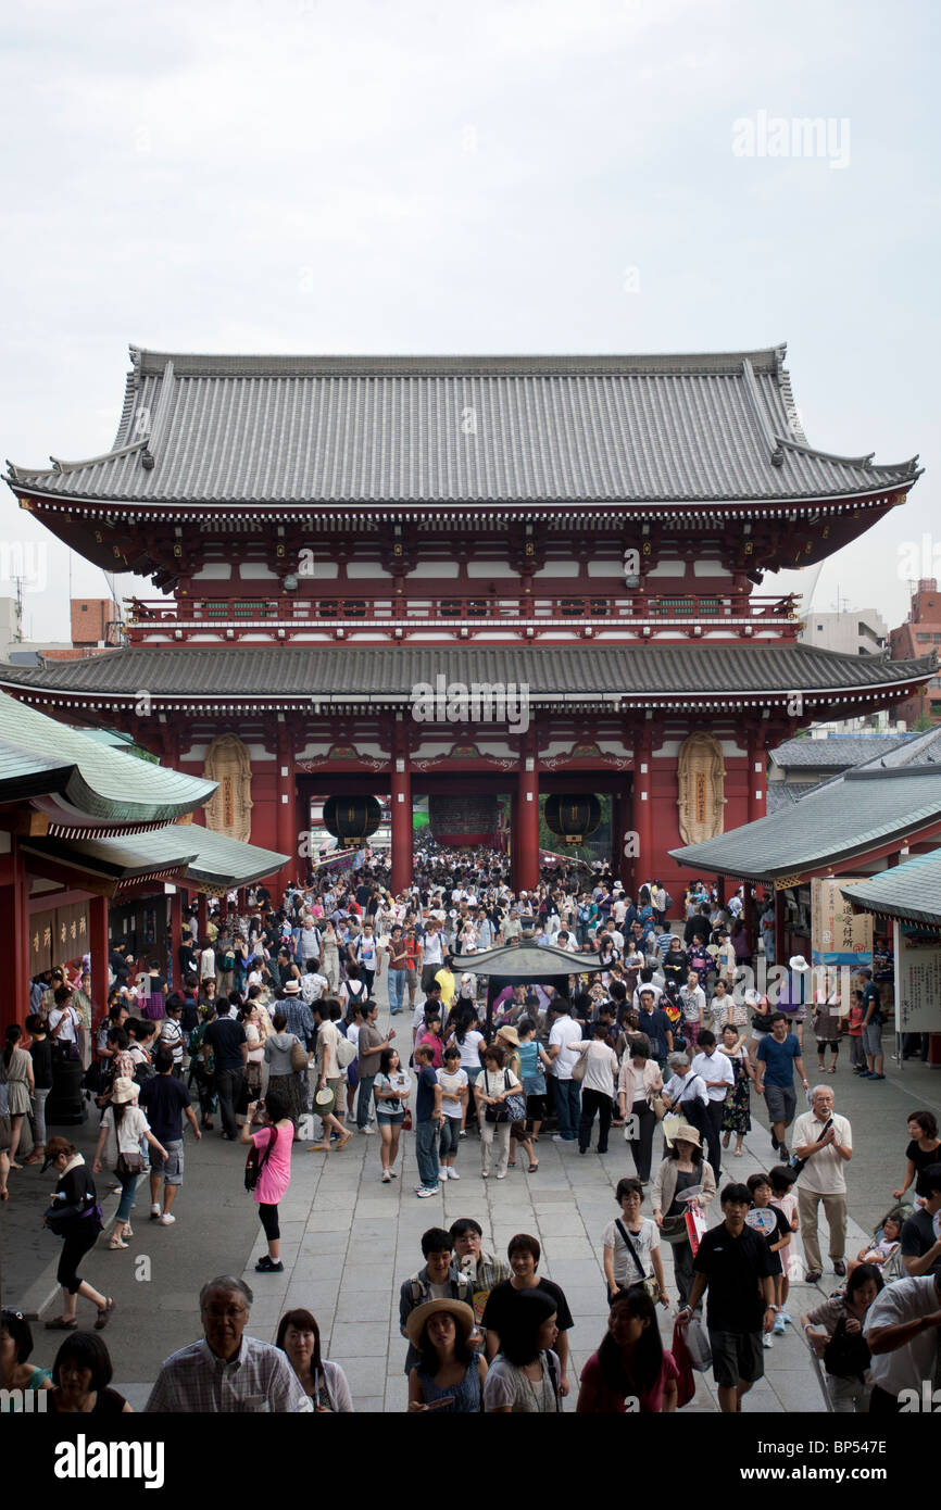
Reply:
<svg viewBox="0 0 941 1510"><path fill-rule="evenodd" d="M541 799L607 794L615 871L680 894L672 850L764 815L769 747L935 675L801 643L764 590L918 477L810 445L784 355L131 347L112 450L8 482L163 596L130 602L122 648L0 686L216 782L205 823L298 856L279 883L314 797L391 800L400 889L417 797L449 844L509 799L529 888Z"/></svg>

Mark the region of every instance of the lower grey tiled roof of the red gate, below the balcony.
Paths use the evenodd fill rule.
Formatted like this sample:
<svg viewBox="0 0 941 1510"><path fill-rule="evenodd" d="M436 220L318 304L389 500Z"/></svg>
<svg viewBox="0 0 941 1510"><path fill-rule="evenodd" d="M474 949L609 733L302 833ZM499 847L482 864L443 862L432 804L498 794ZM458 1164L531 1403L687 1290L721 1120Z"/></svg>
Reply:
<svg viewBox="0 0 941 1510"><path fill-rule="evenodd" d="M0 667L5 687L139 698L304 698L311 702L408 701L435 678L515 683L530 699L793 696L879 692L933 675L933 655L893 661L801 643L577 646L139 646L42 670ZM627 690L625 690L627 689ZM125 758L125 757L115 757Z"/></svg>

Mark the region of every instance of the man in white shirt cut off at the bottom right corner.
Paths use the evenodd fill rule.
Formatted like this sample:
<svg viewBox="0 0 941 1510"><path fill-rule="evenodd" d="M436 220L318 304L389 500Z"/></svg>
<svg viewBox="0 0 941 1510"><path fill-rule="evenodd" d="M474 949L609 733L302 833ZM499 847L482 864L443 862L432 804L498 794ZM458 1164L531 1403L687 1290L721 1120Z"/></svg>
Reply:
<svg viewBox="0 0 941 1510"><path fill-rule="evenodd" d="M941 1273L887 1285L868 1308L862 1333L873 1354L868 1413L930 1410L939 1373Z"/></svg>

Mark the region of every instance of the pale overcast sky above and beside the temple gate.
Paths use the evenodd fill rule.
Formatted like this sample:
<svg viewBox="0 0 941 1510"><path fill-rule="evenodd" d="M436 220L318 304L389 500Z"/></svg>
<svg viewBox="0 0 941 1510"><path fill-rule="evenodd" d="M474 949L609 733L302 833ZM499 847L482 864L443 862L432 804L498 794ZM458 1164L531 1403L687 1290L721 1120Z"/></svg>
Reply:
<svg viewBox="0 0 941 1510"><path fill-rule="evenodd" d="M8 5L3 455L107 450L131 341L785 340L811 444L879 462L918 451L927 468L814 590L817 609L840 590L897 622L938 515L939 14L899 0ZM794 156L790 122L807 116L829 133ZM3 492L0 571L20 542L47 542L26 627L65 636L68 551ZM814 586L766 578L794 581ZM104 595L79 557L73 586ZM134 590L150 583L118 578Z"/></svg>

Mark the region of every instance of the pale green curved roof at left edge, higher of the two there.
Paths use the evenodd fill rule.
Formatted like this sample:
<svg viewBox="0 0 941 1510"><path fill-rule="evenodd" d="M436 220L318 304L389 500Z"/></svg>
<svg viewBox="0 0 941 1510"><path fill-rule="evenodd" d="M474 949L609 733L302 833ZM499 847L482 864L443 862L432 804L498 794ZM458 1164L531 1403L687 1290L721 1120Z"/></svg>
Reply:
<svg viewBox="0 0 941 1510"><path fill-rule="evenodd" d="M0 802L56 793L103 823L172 823L214 790L214 781L136 760L0 693Z"/></svg>

